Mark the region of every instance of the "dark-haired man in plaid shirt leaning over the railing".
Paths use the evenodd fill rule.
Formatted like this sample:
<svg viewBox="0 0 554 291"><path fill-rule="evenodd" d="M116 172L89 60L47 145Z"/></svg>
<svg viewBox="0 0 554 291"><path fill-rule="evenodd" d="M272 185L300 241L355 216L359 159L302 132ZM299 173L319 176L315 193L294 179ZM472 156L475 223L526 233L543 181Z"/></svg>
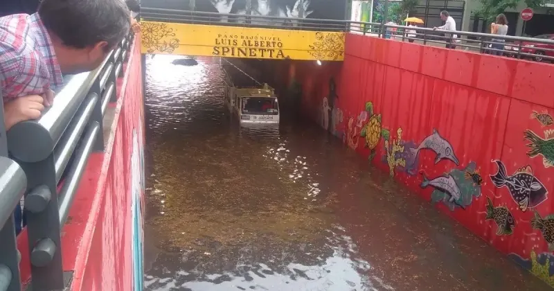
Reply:
<svg viewBox="0 0 554 291"><path fill-rule="evenodd" d="M6 130L39 118L63 74L96 69L129 32L129 14L120 0L43 0L33 15L0 17Z"/></svg>

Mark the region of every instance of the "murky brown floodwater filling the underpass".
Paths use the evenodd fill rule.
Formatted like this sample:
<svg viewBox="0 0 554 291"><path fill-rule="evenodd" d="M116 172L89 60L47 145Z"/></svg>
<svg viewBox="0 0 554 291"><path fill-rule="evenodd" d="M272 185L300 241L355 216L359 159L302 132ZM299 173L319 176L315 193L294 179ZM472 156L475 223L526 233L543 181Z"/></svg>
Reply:
<svg viewBox="0 0 554 291"><path fill-rule="evenodd" d="M146 290L549 290L311 123L240 128L220 60L147 60Z"/></svg>

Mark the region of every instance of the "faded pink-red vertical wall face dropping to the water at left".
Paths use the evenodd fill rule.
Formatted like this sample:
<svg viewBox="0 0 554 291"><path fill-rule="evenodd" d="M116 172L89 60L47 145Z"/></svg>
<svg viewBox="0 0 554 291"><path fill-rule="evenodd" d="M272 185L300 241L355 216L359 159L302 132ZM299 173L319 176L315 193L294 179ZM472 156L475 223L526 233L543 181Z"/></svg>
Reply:
<svg viewBox="0 0 554 291"><path fill-rule="evenodd" d="M90 249L87 259L75 264L72 290L136 290L133 286L132 256L132 168L134 134L143 145L143 96L139 37L135 38L125 78L118 88L120 94L111 124L107 150L103 155L100 175L91 179L90 188L80 190L98 200L100 211L92 209ZM139 146L141 148L141 146ZM94 191L94 193L91 193ZM95 221L96 220L96 221ZM82 276L76 276L77 274Z"/></svg>

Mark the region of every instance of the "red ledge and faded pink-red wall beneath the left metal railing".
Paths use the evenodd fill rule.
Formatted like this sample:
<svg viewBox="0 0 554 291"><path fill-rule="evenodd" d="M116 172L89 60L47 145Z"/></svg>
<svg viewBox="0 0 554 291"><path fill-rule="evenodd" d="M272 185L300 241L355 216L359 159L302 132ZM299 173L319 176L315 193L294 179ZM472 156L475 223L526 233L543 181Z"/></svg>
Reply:
<svg viewBox="0 0 554 291"><path fill-rule="evenodd" d="M111 128L105 152L91 154L62 229L64 270L73 271L71 290L134 290L130 167L133 132L143 130L138 36L123 69L118 101L109 105L115 109L113 123L104 125ZM26 231L17 240L19 249L28 249ZM21 256L21 278L29 281L28 252Z"/></svg>

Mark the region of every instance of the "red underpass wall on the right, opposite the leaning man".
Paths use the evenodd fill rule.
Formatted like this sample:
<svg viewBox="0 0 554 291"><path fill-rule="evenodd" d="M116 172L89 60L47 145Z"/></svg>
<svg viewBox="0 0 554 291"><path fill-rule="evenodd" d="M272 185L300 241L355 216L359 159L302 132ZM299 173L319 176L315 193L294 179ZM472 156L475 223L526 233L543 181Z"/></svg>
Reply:
<svg viewBox="0 0 554 291"><path fill-rule="evenodd" d="M345 145L350 141L364 159L371 151L364 146L370 114L363 112L366 103L373 103L373 116L381 114L382 128L390 134L390 150L402 129L404 152L391 157L404 158L406 166L400 160L393 167L394 179L524 267L531 268L532 252L539 265L546 258L553 261L548 241L554 249L554 233L542 230L554 227L554 216L546 218L554 214L554 66L352 34L346 36L345 53L343 63L283 62L274 71L288 76L285 85L301 83L304 114L320 124L325 123L322 112L330 112L323 107L330 94L328 80L334 78L337 109L327 122L335 123L334 134ZM533 142L524 140L526 130L533 132L528 133ZM428 136L434 143L424 142ZM429 145L450 159L435 163L438 155ZM423 149L418 152L418 147ZM536 152L528 155L532 147ZM374 150L371 164L391 172L383 134ZM498 185L490 177L497 174L494 160L506 167ZM422 187L422 174L431 184ZM444 178L433 182L440 176ZM434 187L440 181L453 185L460 198L443 202L453 195ZM487 197L496 220L486 219ZM513 223L510 215L502 219L498 214L506 210ZM554 274L554 267L549 272Z"/></svg>

